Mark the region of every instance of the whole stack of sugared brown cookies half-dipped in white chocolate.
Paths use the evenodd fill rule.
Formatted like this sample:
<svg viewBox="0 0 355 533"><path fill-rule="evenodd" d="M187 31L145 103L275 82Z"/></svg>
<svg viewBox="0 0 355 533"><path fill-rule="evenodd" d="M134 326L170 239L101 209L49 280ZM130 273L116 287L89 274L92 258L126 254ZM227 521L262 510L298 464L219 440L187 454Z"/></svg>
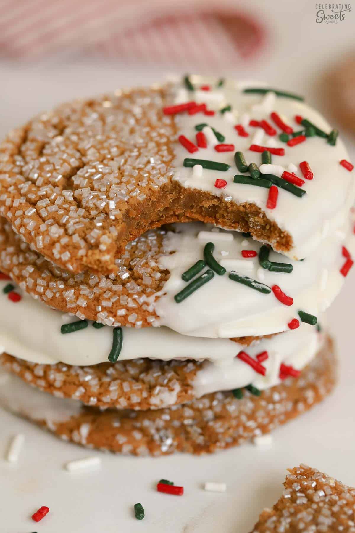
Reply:
<svg viewBox="0 0 355 533"><path fill-rule="evenodd" d="M0 403L126 454L212 452L333 389L352 165L295 94L185 76L0 146Z"/></svg>

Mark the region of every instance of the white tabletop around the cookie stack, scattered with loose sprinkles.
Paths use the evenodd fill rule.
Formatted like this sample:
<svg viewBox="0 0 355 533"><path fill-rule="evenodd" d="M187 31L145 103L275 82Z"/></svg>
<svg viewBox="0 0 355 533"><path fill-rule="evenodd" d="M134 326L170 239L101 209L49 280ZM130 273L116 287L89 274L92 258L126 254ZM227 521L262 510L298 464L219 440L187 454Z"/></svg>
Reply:
<svg viewBox="0 0 355 533"><path fill-rule="evenodd" d="M257 2L252 2L253 5ZM267 12L266 6L260 12ZM313 3L273 2L268 24L275 31L268 50L240 78L264 79L277 87L299 91L316 102L321 70L352 44L353 21L317 25ZM273 27L274 26L274 27ZM36 112L61 100L111 90L121 85L150 83L166 67L152 71L122 65L89 64L70 58L37 66L0 63L0 134ZM196 69L195 69L196 70ZM219 74L219 73L218 73ZM225 74L225 73L224 73ZM325 110L326 111L326 110ZM352 160L355 149L348 140ZM287 467L300 462L355 484L353 442L353 295L355 274L328 313L342 359L335 393L309 413L274 432L273 445L244 445L218 455L130 458L103 455L62 442L30 423L0 412L0 530L6 533L244 533L259 512L271 506L282 491ZM22 432L26 442L19 461L3 459L12 435ZM63 464L86 456L102 458L101 469L67 472ZM182 484L182 497L156 492L160 478ZM205 481L227 483L227 492L205 492ZM133 505L145 508L143 523L134 518ZM42 505L50 508L36 524L30 519Z"/></svg>

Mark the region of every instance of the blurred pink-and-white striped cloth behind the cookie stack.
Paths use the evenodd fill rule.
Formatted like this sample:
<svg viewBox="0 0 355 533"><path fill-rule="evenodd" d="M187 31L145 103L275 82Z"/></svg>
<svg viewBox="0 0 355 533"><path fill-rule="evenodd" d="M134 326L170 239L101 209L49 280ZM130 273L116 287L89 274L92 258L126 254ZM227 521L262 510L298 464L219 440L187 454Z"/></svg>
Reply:
<svg viewBox="0 0 355 533"><path fill-rule="evenodd" d="M237 0L0 0L0 57L104 57L220 69L257 52L265 31Z"/></svg>

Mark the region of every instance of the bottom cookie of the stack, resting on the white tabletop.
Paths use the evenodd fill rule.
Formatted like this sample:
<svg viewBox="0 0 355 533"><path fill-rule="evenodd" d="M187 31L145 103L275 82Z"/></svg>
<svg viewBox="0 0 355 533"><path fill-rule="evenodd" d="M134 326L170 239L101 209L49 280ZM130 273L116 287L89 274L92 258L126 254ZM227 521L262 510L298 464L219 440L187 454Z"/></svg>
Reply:
<svg viewBox="0 0 355 533"><path fill-rule="evenodd" d="M287 378L260 396L245 391L237 399L231 392L217 392L154 411L80 409L78 400L53 398L15 376L9 379L14 382L2 387L2 405L64 440L133 455L202 454L268 433L323 400L335 384L336 358L329 340L300 377Z"/></svg>

